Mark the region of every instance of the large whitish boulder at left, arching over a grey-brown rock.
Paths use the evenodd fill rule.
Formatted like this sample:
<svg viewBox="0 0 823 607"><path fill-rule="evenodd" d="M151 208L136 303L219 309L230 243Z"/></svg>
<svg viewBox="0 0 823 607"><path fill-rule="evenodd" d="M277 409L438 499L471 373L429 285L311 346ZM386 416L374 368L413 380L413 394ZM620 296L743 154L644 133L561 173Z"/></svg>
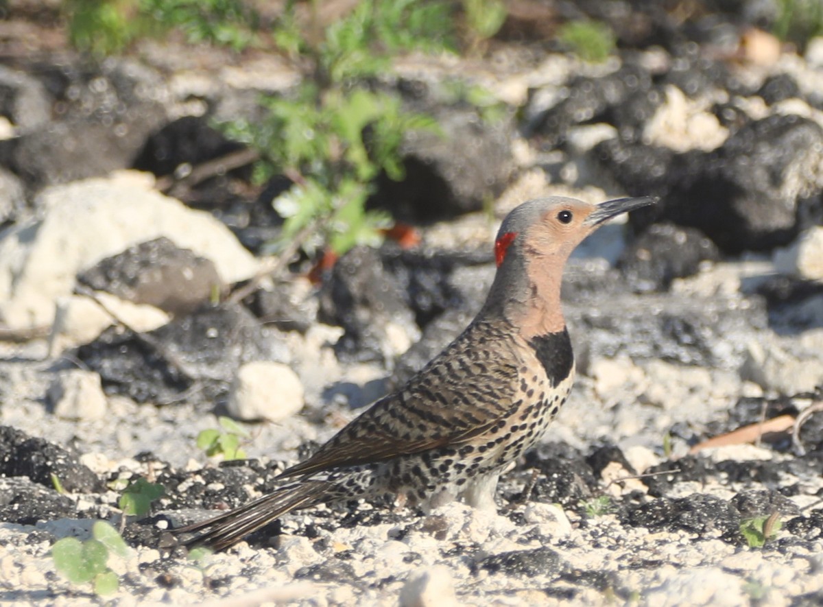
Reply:
<svg viewBox="0 0 823 607"><path fill-rule="evenodd" d="M44 216L0 238L0 322L49 325L78 271L160 236L211 259L226 284L254 275L258 262L225 225L152 186L151 175L124 171L46 188L38 202Z"/></svg>

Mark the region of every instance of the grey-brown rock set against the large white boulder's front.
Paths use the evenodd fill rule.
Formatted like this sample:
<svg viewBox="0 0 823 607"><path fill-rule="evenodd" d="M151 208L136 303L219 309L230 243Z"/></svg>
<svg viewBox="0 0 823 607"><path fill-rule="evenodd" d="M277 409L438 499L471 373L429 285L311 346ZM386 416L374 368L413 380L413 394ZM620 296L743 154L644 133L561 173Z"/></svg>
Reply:
<svg viewBox="0 0 823 607"><path fill-rule="evenodd" d="M106 257L77 280L135 304L179 315L191 313L221 290L214 263L160 237Z"/></svg>

